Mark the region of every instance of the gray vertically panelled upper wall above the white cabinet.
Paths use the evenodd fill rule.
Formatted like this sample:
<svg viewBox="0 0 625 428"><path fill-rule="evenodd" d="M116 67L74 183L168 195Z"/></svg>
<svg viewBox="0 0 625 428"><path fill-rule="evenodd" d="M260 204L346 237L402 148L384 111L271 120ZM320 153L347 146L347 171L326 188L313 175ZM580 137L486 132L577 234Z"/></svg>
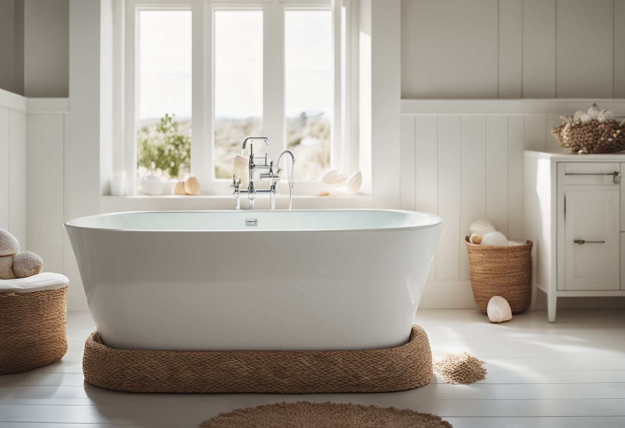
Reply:
<svg viewBox="0 0 625 428"><path fill-rule="evenodd" d="M402 98L625 98L625 0L402 0Z"/></svg>

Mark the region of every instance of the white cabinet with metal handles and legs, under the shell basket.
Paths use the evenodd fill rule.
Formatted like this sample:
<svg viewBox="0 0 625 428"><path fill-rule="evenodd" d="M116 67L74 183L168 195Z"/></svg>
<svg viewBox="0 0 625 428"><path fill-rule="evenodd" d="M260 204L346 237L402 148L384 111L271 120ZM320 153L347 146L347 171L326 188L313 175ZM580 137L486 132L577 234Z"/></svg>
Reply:
<svg viewBox="0 0 625 428"><path fill-rule="evenodd" d="M625 296L625 155L526 151L524 234L534 242L532 307L557 297Z"/></svg>

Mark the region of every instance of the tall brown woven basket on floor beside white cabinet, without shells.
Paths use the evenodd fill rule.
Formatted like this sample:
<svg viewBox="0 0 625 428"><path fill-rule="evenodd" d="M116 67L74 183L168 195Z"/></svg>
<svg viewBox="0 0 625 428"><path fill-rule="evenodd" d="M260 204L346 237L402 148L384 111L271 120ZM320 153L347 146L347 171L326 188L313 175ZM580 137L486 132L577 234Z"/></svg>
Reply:
<svg viewBox="0 0 625 428"><path fill-rule="evenodd" d="M532 297L532 242L509 247L476 245L464 238L469 253L471 288L479 310L486 313L492 296L501 296L512 313L523 312Z"/></svg>

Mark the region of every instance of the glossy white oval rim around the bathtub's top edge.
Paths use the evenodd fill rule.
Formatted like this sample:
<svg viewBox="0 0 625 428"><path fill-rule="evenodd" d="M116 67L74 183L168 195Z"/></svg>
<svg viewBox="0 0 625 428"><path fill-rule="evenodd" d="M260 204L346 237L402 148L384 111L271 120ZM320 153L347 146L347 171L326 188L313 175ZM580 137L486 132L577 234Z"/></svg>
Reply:
<svg viewBox="0 0 625 428"><path fill-rule="evenodd" d="M92 226L82 226L72 224L79 220L83 220L84 218L98 218L104 217L107 215L116 215L116 214L131 214L131 213L241 213L247 212L250 215L253 215L254 212L261 213L271 213L276 211L292 211L292 212L351 212L351 211L377 211L377 212L393 212L393 213L406 213L406 214L423 214L427 217L430 217L434 222L427 223L425 225L418 226L404 226L404 227L376 227L376 228L341 228L341 229L328 229L328 228L319 228L319 229L124 229L124 228L111 228L111 227L92 227ZM112 213L100 213L94 215L86 215L83 217L74 218L72 220L68 220L63 223L63 227L65 230L76 229L76 230L93 230L93 231L111 231L111 232L160 232L160 233L182 233L182 232L191 232L191 233L199 233L199 232L245 232L245 233L263 233L263 232L407 232L411 230L424 230L427 228L433 228L437 225L442 225L444 220L442 217L427 213L425 211L413 211L413 210L391 210L386 208L336 208L336 209L301 209L301 210L146 210L146 211L116 211Z"/></svg>

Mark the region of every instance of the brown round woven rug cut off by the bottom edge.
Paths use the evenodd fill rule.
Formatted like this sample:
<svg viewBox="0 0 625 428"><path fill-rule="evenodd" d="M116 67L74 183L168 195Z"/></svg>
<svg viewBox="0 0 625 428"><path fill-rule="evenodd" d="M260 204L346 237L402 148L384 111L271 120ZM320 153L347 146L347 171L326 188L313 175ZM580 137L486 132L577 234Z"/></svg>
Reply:
<svg viewBox="0 0 625 428"><path fill-rule="evenodd" d="M234 409L204 420L200 428L451 428L437 415L352 403L298 401Z"/></svg>

